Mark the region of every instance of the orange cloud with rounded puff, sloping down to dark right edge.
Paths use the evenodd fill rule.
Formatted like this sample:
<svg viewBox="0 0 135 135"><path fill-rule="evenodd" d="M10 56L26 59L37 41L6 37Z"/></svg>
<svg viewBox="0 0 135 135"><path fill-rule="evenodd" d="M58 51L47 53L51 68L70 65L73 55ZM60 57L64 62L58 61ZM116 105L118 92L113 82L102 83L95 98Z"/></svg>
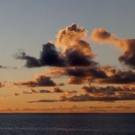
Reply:
<svg viewBox="0 0 135 135"><path fill-rule="evenodd" d="M116 48L123 50L118 57L119 61L135 69L135 39L118 38L104 28L94 29L91 39L100 43L113 43Z"/></svg>

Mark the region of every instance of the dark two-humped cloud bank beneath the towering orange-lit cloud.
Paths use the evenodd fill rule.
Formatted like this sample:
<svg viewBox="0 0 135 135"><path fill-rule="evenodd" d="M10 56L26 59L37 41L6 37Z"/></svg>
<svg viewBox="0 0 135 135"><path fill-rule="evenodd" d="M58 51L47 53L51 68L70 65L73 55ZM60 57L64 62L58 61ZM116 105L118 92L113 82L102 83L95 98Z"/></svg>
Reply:
<svg viewBox="0 0 135 135"><path fill-rule="evenodd" d="M90 66L95 63L92 60L92 56L85 55L84 52L75 48L75 46L68 48L65 53L62 54L56 50L55 45L52 43L43 45L39 59L28 56L25 52L16 54L15 58L26 60L25 67L28 68L41 66Z"/></svg>

